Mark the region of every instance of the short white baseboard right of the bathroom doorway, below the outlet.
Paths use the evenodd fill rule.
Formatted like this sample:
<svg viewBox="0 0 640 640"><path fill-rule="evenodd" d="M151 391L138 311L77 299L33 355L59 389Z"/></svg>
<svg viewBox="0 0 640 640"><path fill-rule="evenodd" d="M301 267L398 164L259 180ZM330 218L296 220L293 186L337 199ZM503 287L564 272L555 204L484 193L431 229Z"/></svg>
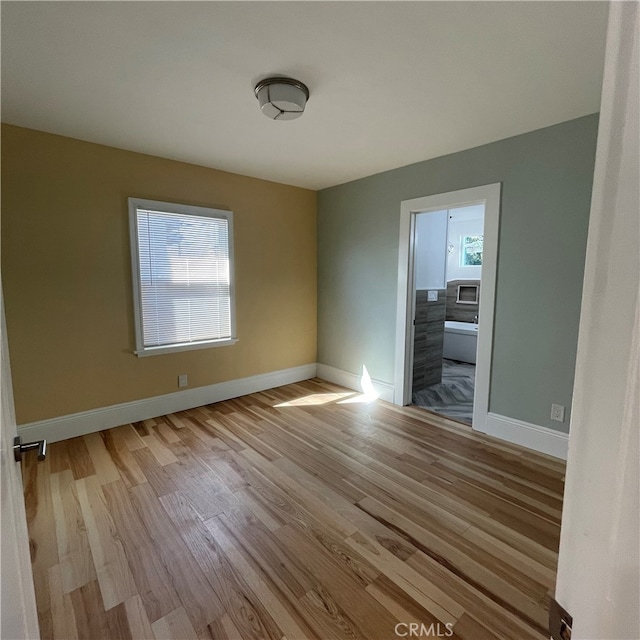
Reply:
<svg viewBox="0 0 640 640"><path fill-rule="evenodd" d="M569 434L539 427L529 422L507 418L496 413L487 414L485 433L495 438L522 445L547 455L567 459Z"/></svg>

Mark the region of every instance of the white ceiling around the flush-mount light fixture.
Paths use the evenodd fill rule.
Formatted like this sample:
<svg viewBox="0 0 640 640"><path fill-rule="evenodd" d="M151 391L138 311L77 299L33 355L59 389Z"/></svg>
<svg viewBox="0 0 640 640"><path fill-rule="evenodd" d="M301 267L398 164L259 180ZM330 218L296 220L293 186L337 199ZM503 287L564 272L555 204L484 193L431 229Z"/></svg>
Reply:
<svg viewBox="0 0 640 640"><path fill-rule="evenodd" d="M311 189L599 110L600 2L2 2L2 120ZM308 85L302 118L253 95Z"/></svg>

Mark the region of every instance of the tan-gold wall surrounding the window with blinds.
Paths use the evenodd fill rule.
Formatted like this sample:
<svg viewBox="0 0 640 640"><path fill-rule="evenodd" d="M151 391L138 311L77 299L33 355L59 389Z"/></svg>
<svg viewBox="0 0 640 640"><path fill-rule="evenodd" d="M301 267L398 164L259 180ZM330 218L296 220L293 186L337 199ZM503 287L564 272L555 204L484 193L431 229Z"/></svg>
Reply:
<svg viewBox="0 0 640 640"><path fill-rule="evenodd" d="M138 358L127 198L234 213L233 346ZM18 423L316 361L316 193L2 127L2 280Z"/></svg>

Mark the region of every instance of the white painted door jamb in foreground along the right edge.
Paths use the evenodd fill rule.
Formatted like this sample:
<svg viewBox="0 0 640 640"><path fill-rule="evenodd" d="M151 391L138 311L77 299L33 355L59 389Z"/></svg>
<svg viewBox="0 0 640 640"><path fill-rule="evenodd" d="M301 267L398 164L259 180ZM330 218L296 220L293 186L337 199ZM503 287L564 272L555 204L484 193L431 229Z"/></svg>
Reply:
<svg viewBox="0 0 640 640"><path fill-rule="evenodd" d="M609 4L556 600L573 637L640 638L640 11Z"/></svg>

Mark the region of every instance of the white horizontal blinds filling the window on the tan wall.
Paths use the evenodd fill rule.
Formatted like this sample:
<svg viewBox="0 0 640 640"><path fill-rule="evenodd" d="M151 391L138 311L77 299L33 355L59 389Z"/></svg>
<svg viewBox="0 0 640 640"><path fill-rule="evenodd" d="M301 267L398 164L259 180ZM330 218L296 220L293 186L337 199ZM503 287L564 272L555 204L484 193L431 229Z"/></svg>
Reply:
<svg viewBox="0 0 640 640"><path fill-rule="evenodd" d="M229 221L137 209L145 347L231 337Z"/></svg>

